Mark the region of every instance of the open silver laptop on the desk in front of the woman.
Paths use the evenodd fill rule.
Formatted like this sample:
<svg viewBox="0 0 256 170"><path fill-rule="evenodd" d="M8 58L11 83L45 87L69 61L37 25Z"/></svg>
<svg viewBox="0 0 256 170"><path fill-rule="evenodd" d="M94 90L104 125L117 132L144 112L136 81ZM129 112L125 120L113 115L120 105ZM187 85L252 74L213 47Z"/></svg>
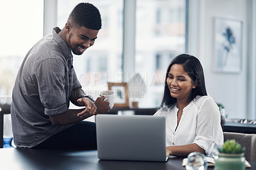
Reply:
<svg viewBox="0 0 256 170"><path fill-rule="evenodd" d="M165 162L165 118L162 116L97 114L100 160Z"/></svg>

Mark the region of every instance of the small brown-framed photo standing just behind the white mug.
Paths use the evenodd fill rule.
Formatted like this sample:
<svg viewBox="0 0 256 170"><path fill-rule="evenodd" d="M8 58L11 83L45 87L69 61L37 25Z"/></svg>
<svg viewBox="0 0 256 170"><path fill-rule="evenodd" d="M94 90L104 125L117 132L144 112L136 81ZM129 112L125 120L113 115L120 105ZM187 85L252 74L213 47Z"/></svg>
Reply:
<svg viewBox="0 0 256 170"><path fill-rule="evenodd" d="M129 107L127 82L108 82L108 89L115 91L114 107Z"/></svg>

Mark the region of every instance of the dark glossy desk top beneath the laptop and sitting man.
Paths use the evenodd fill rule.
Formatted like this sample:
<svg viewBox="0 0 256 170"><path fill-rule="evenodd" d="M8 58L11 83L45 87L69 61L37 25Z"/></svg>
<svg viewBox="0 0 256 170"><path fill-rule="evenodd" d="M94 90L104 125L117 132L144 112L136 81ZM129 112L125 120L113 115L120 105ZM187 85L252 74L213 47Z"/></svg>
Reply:
<svg viewBox="0 0 256 170"><path fill-rule="evenodd" d="M182 158L169 158L168 162L134 162L99 160L97 151L44 150L28 148L0 149L0 167L4 169L186 169ZM256 162L250 162L255 169ZM213 167L208 167L213 169ZM246 168L247 169L247 168ZM250 169L250 168L248 168Z"/></svg>

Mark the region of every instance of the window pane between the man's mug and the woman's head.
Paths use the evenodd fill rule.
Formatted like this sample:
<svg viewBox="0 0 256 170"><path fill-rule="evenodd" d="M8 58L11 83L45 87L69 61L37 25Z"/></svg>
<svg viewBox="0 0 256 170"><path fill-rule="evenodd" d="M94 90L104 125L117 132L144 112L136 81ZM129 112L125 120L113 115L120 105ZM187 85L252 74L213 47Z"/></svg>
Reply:
<svg viewBox="0 0 256 170"><path fill-rule="evenodd" d="M139 107L159 107L168 64L185 52L186 0L136 1L136 73L147 87Z"/></svg>

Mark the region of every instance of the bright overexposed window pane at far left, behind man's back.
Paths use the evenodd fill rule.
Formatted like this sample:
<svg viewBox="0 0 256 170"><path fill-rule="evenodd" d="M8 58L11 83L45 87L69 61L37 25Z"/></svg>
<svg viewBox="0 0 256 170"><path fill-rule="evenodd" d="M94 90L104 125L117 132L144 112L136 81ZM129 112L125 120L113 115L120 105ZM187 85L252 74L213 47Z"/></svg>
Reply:
<svg viewBox="0 0 256 170"><path fill-rule="evenodd" d="M44 1L1 1L0 95L11 95L26 53L44 32Z"/></svg>

